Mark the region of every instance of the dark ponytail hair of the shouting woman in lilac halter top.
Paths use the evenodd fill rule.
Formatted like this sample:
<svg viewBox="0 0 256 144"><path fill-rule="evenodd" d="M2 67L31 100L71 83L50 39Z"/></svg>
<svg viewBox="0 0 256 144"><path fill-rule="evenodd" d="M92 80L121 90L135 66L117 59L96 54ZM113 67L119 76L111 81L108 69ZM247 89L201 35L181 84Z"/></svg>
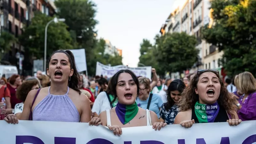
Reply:
<svg viewBox="0 0 256 144"><path fill-rule="evenodd" d="M79 94L81 94L81 91L79 90L79 81L80 81L80 75L79 72L76 69L76 62L75 62L75 57L73 55L73 53L69 50L58 50L52 53L58 53L58 52L62 52L65 53L68 56L68 61L70 63L70 69L74 69L73 75L70 77L70 81L68 81L68 87L72 88L73 90L75 90L76 92L78 92ZM50 56L50 59L48 60L48 68L49 68L49 64L50 64L50 60L52 58L52 55Z"/></svg>

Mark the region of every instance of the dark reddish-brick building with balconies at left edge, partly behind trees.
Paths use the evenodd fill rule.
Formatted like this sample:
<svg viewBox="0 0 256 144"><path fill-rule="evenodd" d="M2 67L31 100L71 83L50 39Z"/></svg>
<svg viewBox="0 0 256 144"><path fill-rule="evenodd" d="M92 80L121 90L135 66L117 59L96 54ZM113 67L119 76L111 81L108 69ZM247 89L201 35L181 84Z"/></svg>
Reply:
<svg viewBox="0 0 256 144"><path fill-rule="evenodd" d="M0 0L0 31L9 32L18 38L23 33L24 26L30 24L35 11L53 16L55 9L56 6L51 0ZM2 64L16 65L22 71L25 52L19 42L12 44L9 52L2 53L4 53L1 60ZM28 67L31 69L32 66L30 64Z"/></svg>

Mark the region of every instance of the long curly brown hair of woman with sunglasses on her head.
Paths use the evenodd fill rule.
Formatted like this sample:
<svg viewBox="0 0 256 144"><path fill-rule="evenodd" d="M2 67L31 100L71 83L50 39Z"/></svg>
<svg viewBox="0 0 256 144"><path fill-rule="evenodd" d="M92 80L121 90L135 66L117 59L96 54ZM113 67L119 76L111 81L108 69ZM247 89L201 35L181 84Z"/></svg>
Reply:
<svg viewBox="0 0 256 144"><path fill-rule="evenodd" d="M211 72L210 70L206 70L200 74L196 74L189 82L188 86L186 86L185 90L181 94L181 98L179 100L179 110L187 111L191 108L194 108L197 101L199 101L199 96L196 94L195 89L197 88L197 83L199 76L205 72ZM221 80L218 73L215 73L220 82L220 96L218 98L218 104L225 108L227 112L231 115L232 118L235 118L234 113L236 113L236 107L233 104L232 96L229 94L227 88L224 86L223 81Z"/></svg>

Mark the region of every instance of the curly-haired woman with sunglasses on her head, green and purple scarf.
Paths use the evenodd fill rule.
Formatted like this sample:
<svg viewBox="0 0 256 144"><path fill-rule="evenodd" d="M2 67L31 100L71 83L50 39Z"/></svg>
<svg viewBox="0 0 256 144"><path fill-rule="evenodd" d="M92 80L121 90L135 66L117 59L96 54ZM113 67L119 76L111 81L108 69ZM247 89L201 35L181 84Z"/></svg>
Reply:
<svg viewBox="0 0 256 144"><path fill-rule="evenodd" d="M194 123L214 122L228 122L234 126L242 121L217 70L198 70L183 91L179 108L174 124L181 124L185 128Z"/></svg>

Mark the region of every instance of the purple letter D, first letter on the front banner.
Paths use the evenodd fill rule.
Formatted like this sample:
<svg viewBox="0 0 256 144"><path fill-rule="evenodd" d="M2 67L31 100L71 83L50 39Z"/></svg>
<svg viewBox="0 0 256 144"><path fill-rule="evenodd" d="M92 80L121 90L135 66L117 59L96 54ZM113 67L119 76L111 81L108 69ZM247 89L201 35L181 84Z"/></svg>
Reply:
<svg viewBox="0 0 256 144"><path fill-rule="evenodd" d="M24 144L24 143L44 144L44 142L38 137L30 136L30 135L17 135L16 144Z"/></svg>

